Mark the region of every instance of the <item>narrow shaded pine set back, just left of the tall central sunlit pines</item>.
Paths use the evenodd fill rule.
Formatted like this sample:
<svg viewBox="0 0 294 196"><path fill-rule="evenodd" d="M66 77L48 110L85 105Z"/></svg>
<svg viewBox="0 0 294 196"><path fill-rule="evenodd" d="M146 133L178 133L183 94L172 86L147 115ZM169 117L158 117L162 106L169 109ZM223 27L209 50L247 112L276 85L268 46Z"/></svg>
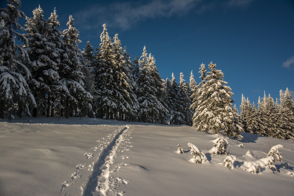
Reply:
<svg viewBox="0 0 294 196"><path fill-rule="evenodd" d="M83 67L81 68L81 71L84 74L83 82L84 82L84 88L85 91L91 93L93 96L93 100L95 100L97 96L97 89L96 89L96 83L95 83L95 74L94 72L94 52L93 52L93 46L91 45L90 41L87 41L87 44L85 48L82 51L83 54ZM94 107L92 101L91 105ZM83 115L88 115L89 117L92 117L93 110L88 108L83 108Z"/></svg>

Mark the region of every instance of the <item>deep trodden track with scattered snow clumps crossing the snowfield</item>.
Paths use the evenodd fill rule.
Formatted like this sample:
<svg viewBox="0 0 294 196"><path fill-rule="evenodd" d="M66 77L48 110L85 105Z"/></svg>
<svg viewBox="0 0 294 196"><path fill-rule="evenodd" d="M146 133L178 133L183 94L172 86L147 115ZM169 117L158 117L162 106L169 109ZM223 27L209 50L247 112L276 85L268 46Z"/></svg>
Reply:
<svg viewBox="0 0 294 196"><path fill-rule="evenodd" d="M118 158L117 152L125 152L130 150L128 147L133 147L127 137L131 136L131 128L129 125L120 126L113 133L107 135L107 138L102 138L103 143L91 148L92 151L98 151L98 160L92 165L89 164L78 164L76 166L76 172L71 174L71 181L66 181L61 185L62 193L66 187L72 186L77 178L81 178L79 169L87 169L93 171L88 181L81 186L81 195L83 196L108 196L108 195L123 195L123 192L116 191L116 187L120 184L126 186L128 179L121 177L113 177L111 173L118 173L118 170L122 166L128 165L128 163L119 162L116 163L115 158ZM101 140L97 140L101 142ZM118 147L121 145L120 150ZM84 154L87 159L93 158L94 153ZM129 156L120 156L122 160L128 159ZM115 164L114 164L115 163ZM68 193L67 193L68 194ZM67 195L65 194L65 195Z"/></svg>

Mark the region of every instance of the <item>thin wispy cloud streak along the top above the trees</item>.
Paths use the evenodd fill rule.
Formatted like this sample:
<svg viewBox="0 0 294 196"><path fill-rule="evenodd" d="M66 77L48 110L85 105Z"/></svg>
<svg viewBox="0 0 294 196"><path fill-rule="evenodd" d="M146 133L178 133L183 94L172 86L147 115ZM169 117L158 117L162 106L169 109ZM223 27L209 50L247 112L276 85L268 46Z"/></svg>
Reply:
<svg viewBox="0 0 294 196"><path fill-rule="evenodd" d="M116 2L112 4L93 4L91 8L73 14L75 24L84 30L93 30L106 23L120 29L135 27L140 21L160 17L185 15L195 8L200 0L150 1L147 3ZM89 23L90 22L90 23Z"/></svg>

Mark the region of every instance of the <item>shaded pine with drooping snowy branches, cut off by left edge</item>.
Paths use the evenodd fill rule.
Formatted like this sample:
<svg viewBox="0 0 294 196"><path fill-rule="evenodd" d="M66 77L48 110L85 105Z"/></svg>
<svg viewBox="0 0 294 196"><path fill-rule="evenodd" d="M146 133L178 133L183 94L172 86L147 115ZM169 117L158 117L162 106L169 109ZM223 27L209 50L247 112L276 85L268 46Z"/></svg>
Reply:
<svg viewBox="0 0 294 196"><path fill-rule="evenodd" d="M31 115L29 105L36 105L27 83L31 79L31 73L26 67L30 59L23 47L28 46L28 40L16 31L16 29L24 31L24 27L18 23L18 18L26 16L19 9L21 6L19 0L7 1L8 6L0 8L0 118L2 119L4 111L8 109L11 111L14 105L18 106L19 116L23 113ZM16 38L24 42L23 47L16 44Z"/></svg>

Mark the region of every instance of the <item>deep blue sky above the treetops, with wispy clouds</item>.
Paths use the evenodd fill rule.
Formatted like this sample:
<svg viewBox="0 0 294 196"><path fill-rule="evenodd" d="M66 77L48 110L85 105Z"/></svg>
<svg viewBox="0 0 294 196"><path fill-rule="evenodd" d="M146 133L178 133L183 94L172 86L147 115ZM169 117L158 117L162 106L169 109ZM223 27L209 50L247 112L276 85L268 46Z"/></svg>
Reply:
<svg viewBox="0 0 294 196"><path fill-rule="evenodd" d="M242 94L256 104L263 91L275 99L288 87L294 96L293 0L21 2L28 17L40 4L48 19L55 7L60 30L67 29L72 15L81 49L88 40L98 47L106 23L132 60L146 45L163 79L174 73L179 82L183 72L188 82L193 70L199 83L200 64L213 61L232 88L237 108ZM1 7L5 4L1 1Z"/></svg>

